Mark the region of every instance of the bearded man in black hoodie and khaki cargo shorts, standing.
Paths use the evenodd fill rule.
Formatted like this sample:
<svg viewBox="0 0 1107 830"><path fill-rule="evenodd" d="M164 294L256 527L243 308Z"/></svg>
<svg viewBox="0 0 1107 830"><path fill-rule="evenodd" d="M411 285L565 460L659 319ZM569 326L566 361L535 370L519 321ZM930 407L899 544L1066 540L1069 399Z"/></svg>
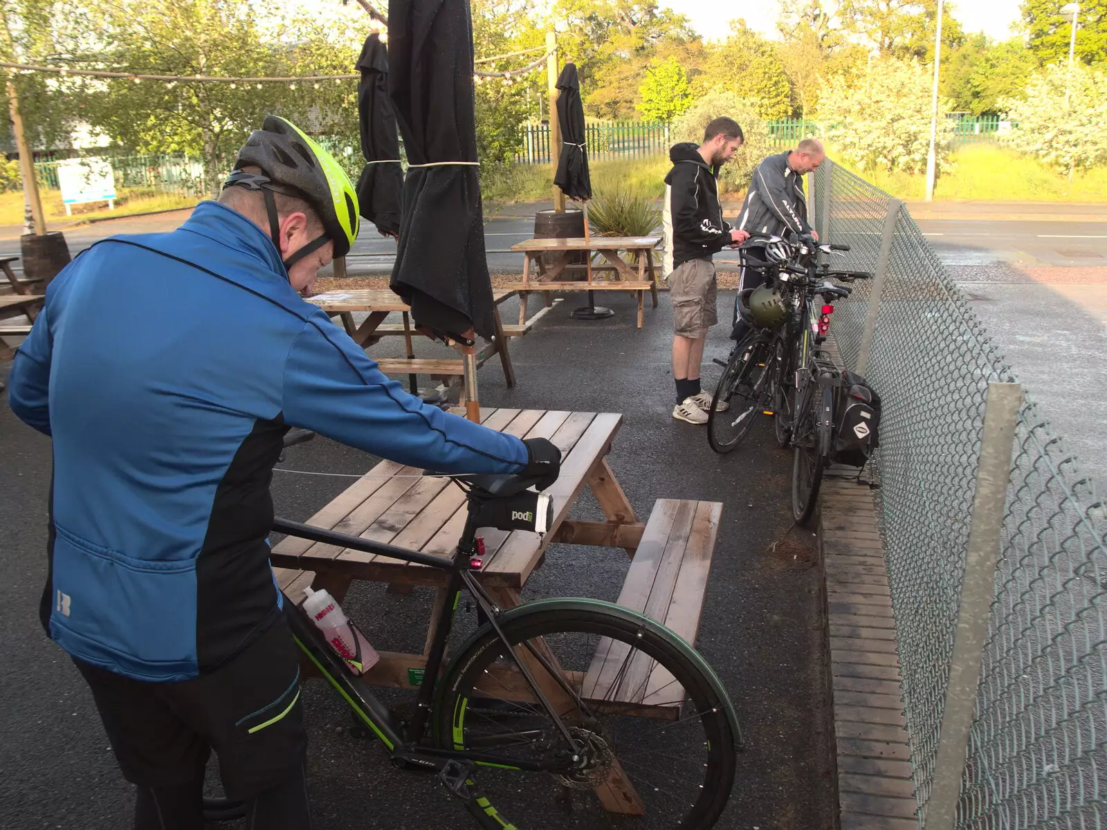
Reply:
<svg viewBox="0 0 1107 830"><path fill-rule="evenodd" d="M707 423L711 395L700 388L700 363L707 329L718 322L717 283L712 257L749 237L723 221L715 177L718 168L742 146L742 127L733 118L715 118L704 131L703 144L676 144L669 151L673 169L665 176L665 262L669 298L673 303L673 417L689 424ZM720 405L725 409L727 404Z"/></svg>

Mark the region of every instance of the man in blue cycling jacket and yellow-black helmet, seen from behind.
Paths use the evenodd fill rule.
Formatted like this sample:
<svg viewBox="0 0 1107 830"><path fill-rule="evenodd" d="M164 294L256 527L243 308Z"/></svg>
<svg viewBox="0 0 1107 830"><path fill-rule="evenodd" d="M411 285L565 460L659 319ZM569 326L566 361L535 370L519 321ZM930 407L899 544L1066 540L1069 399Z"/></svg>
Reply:
<svg viewBox="0 0 1107 830"><path fill-rule="evenodd" d="M291 426L444 473L557 476L552 444L405 394L303 301L358 227L334 158L269 116L218 201L58 274L15 356L11 409L53 438L42 623L137 786L138 830L203 828L211 750L251 828L311 826L267 542Z"/></svg>

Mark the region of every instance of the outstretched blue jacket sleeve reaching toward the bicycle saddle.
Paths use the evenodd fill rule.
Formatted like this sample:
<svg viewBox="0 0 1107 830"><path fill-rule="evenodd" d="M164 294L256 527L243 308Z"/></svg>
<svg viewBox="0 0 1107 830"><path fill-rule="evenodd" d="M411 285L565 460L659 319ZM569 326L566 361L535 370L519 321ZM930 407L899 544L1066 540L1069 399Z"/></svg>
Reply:
<svg viewBox="0 0 1107 830"><path fill-rule="evenodd" d="M408 395L327 320L309 320L297 336L282 394L286 423L412 467L521 473L527 464L519 438Z"/></svg>

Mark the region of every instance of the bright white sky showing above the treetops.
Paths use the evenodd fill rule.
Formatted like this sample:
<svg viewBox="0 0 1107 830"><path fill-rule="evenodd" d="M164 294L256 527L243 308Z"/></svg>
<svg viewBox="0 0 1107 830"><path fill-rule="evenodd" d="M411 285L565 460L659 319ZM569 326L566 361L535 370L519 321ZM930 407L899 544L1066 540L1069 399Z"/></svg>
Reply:
<svg viewBox="0 0 1107 830"><path fill-rule="evenodd" d="M661 4L687 15L706 40L725 38L726 23L735 18L745 18L752 29L763 34L777 34L779 0L661 0ZM1011 24L1018 20L1020 4L1021 0L960 0L953 3L952 14L966 32L983 31L996 40L1006 40L1012 35Z"/></svg>

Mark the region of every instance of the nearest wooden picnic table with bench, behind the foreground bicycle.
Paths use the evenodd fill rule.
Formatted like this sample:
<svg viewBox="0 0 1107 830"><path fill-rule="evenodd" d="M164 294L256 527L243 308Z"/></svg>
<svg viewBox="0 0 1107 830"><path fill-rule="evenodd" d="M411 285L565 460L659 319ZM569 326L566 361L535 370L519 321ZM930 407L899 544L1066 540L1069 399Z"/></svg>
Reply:
<svg viewBox="0 0 1107 830"><path fill-rule="evenodd" d="M562 453L561 476L546 492L552 497L554 522L539 537L525 531L485 529L486 554L477 577L494 601L504 609L523 602L521 590L539 568L554 542L622 548L632 557L619 604L663 623L689 642L695 641L703 608L712 552L718 532L722 505L707 501L661 499L643 525L607 461L622 415L541 409L482 409L485 426L520 438L546 437ZM394 461L381 461L343 494L308 520L309 525L360 536L364 539L418 550L439 557L453 556L466 518L465 494L447 478L421 475L422 470ZM569 512L583 488L596 496L604 521L580 521ZM448 574L427 566L403 562L288 537L273 546L272 564L278 583L297 603L303 588L327 588L340 602L353 580L386 582L390 590L407 587L437 588L436 608L445 601ZM582 584L581 593L588 593ZM371 631L371 623L363 627ZM365 679L384 686L417 685L433 632L427 632L423 654L381 652L381 662ZM615 667L625 654L621 646L601 640L587 672L567 673L580 693L596 699L620 703L611 688ZM377 650L380 651L380 650ZM645 671L646 666L630 666ZM649 689L668 679L650 676L645 699L622 701L629 714L676 718L671 703L650 702ZM628 689L634 688L621 684Z"/></svg>

